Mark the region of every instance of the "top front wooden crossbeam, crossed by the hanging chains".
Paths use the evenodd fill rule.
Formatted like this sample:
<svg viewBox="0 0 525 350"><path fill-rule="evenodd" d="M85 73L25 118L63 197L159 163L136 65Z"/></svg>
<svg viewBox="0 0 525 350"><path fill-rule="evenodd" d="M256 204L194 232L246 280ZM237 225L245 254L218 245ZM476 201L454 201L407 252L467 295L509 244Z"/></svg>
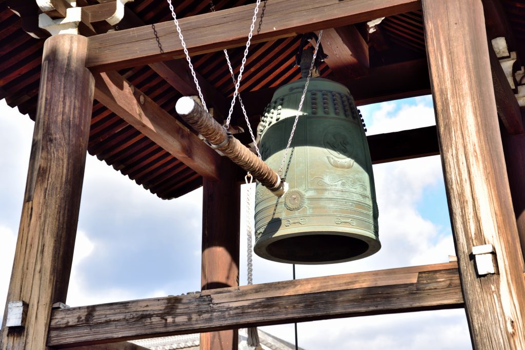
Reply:
<svg viewBox="0 0 525 350"><path fill-rule="evenodd" d="M419 0L275 0L266 7L259 34L252 41L295 36L419 8ZM190 54L245 45L253 12L254 5L250 4L180 19ZM99 71L184 57L172 21L92 36L88 51L87 67Z"/></svg>

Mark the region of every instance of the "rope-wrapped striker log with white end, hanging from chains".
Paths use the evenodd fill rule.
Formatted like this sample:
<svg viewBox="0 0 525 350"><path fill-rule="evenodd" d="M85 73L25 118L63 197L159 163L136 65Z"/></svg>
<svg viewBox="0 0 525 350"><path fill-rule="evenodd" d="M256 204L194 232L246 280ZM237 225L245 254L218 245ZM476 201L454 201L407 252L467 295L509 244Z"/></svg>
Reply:
<svg viewBox="0 0 525 350"><path fill-rule="evenodd" d="M222 125L191 97L182 97L177 101L175 109L193 129L199 132L217 150L224 153L232 162L250 172L257 181L268 188L271 193L282 197L286 193L285 182L280 176L252 153L248 147L228 135Z"/></svg>

